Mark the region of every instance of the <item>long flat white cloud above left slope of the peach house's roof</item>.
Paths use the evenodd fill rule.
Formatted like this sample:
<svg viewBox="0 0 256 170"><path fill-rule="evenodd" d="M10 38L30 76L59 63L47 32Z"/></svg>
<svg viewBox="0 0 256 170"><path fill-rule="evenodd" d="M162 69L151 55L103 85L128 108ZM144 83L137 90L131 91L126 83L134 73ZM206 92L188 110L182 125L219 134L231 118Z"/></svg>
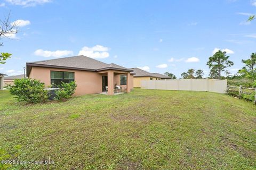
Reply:
<svg viewBox="0 0 256 170"><path fill-rule="evenodd" d="M37 49L34 54L43 57L63 57L67 55L73 55L73 52L69 50L56 50L52 52L43 49Z"/></svg>

